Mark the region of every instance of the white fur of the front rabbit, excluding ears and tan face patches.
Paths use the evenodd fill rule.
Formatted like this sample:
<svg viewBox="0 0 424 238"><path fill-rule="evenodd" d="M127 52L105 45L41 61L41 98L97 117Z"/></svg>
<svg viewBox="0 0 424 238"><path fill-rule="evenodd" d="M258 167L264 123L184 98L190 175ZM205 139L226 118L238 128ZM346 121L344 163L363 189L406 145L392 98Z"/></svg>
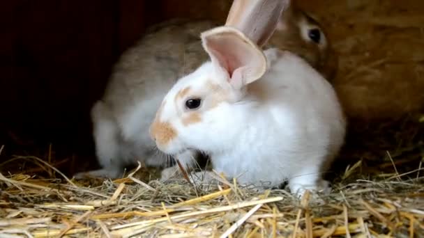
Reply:
<svg viewBox="0 0 424 238"><path fill-rule="evenodd" d="M188 126L181 123L181 109L167 103L160 120L171 123L178 137L160 149L169 154L202 150L211 155L214 170L243 184L274 187L288 179L293 193L321 189L326 184L322 173L345 137L338 97L299 56L278 49L264 53L270 68L250 86L263 88L266 99L247 93L239 102L202 111L202 122ZM180 79L165 100L172 102L187 86L202 92L211 80L228 87L227 79L208 62Z"/></svg>

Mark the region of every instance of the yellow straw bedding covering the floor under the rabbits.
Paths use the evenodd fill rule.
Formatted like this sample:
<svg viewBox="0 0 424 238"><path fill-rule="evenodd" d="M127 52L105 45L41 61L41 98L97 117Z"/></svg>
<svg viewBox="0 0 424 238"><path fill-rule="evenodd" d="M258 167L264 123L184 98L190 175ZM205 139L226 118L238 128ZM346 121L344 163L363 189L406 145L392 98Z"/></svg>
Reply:
<svg viewBox="0 0 424 238"><path fill-rule="evenodd" d="M135 173L95 187L65 175L0 174L0 236L422 237L424 177L354 179L360 167L347 168L330 195L300 200L284 189L258 192L236 182L140 185Z"/></svg>

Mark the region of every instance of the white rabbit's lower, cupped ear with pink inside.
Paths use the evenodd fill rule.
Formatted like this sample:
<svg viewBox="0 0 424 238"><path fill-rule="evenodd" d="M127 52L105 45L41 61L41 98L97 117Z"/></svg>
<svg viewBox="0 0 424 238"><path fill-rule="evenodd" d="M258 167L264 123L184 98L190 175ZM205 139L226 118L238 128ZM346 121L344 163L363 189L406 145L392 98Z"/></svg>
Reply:
<svg viewBox="0 0 424 238"><path fill-rule="evenodd" d="M262 77L266 58L257 45L241 31L218 26L201 34L202 45L218 70L224 70L236 89Z"/></svg>

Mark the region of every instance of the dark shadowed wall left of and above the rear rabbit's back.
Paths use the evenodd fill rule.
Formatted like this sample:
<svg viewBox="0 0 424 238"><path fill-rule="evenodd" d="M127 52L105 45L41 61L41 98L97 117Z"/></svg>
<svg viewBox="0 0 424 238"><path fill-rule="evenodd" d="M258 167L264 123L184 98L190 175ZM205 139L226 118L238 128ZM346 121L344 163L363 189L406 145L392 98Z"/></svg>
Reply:
<svg viewBox="0 0 424 238"><path fill-rule="evenodd" d="M146 26L222 19L230 1L1 1L0 145L92 152L89 110L112 64ZM34 144L33 144L34 145Z"/></svg>

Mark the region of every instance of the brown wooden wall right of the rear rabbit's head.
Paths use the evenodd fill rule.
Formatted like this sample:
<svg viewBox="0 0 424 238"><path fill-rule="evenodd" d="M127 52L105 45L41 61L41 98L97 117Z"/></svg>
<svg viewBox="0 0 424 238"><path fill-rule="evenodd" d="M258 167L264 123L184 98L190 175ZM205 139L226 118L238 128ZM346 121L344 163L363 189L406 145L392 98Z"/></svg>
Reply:
<svg viewBox="0 0 424 238"><path fill-rule="evenodd" d="M398 1L358 1L346 11L339 1L330 8L302 2L334 42L339 69L333 86L352 127L424 112L423 23L417 18L424 1L402 1L402 11Z"/></svg>

